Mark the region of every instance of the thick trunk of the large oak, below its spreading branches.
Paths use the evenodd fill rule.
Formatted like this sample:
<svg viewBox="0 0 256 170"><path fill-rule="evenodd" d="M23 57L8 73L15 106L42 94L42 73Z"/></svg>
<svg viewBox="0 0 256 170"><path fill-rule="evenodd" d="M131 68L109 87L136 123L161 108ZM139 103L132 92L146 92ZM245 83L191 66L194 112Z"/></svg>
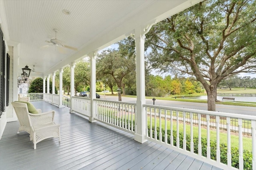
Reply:
<svg viewBox="0 0 256 170"><path fill-rule="evenodd" d="M207 92L207 100L208 100L208 111L216 111L216 96L217 96L217 90L216 85L210 85L210 88L206 88Z"/></svg>

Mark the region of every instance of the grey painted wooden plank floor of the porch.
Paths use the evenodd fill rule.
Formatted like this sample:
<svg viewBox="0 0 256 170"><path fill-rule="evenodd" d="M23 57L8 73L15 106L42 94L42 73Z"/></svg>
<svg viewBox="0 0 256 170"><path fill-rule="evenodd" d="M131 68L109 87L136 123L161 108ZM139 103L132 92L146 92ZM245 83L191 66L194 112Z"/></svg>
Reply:
<svg viewBox="0 0 256 170"><path fill-rule="evenodd" d="M19 123L9 122L0 140L1 170L218 170L174 150L100 122L90 123L68 108L32 102L42 111L55 110L61 129L58 138L41 141L33 149L29 134L17 134Z"/></svg>

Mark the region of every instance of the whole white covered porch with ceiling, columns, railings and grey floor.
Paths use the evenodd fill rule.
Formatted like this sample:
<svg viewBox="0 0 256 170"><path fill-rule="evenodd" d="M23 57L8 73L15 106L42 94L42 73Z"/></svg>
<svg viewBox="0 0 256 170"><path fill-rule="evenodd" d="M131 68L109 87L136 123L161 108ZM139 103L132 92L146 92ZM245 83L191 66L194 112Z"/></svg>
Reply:
<svg viewBox="0 0 256 170"><path fill-rule="evenodd" d="M200 0L77 2L0 0L1 35L5 47L1 72L1 80L5 81L0 94L1 169L236 169L232 167L233 131L238 136L239 169L244 169L245 162L243 133L250 133L250 164L253 170L256 169L256 116L145 103L146 33L155 23ZM67 9L73 16L62 15ZM38 11L46 12L38 14ZM66 47L72 45L74 48L68 48L65 54L51 47L41 49L50 42L48 40L54 39L48 38L52 29L60 29L58 39L66 41ZM96 99L98 51L128 36L136 43L136 103ZM62 44L50 46L57 48ZM90 98L74 95L74 68L84 57L90 58L90 91L93 92ZM18 100L17 77L21 68L25 65L32 68L33 64L36 73L31 76L43 78L44 90L24 96L29 96L42 111L56 111L55 121L61 124L62 138L60 143L58 139L44 140L37 144L36 150L28 133L16 133L18 121L11 105ZM62 95L62 72L66 66L70 66L70 98ZM60 91L50 94L49 89L54 92L55 87L50 87L49 80L52 78L54 84L56 71L60 72ZM212 127L216 133L213 139L210 137ZM226 135L225 164L221 162L221 129L225 129ZM203 134L206 145L202 145ZM193 136L198 137L197 143ZM214 151L210 147L211 140L216 140Z"/></svg>

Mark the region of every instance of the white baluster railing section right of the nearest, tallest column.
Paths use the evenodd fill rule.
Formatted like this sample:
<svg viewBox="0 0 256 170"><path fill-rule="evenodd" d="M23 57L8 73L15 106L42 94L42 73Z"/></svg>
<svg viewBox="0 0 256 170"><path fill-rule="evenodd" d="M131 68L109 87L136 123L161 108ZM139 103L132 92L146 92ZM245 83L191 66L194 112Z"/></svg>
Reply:
<svg viewBox="0 0 256 170"><path fill-rule="evenodd" d="M184 109L178 107L165 107L144 105L148 115L146 139L182 152L210 164L218 163L223 169L232 167L234 153L231 152L231 126L237 126L239 153L239 169L244 169L244 149L242 127L251 127L252 135L252 169L256 169L256 116L238 115L232 113ZM220 117L226 119L226 130L220 130ZM211 119L215 120L216 128L210 129ZM237 120L237 124L231 124L230 120ZM206 122L206 132L202 135L202 122ZM242 122L250 122L250 126ZM193 129L198 129L197 132ZM187 130L189 131L187 135ZM210 133L216 133L214 139L210 139ZM220 133L226 134L225 144L220 143ZM204 137L203 137L204 136ZM249 152L250 152L249 151ZM246 152L247 153L247 152ZM222 157L221 157L222 156ZM214 158L214 159L212 159ZM249 161L249 160L246 160ZM235 169L235 168L234 168Z"/></svg>

